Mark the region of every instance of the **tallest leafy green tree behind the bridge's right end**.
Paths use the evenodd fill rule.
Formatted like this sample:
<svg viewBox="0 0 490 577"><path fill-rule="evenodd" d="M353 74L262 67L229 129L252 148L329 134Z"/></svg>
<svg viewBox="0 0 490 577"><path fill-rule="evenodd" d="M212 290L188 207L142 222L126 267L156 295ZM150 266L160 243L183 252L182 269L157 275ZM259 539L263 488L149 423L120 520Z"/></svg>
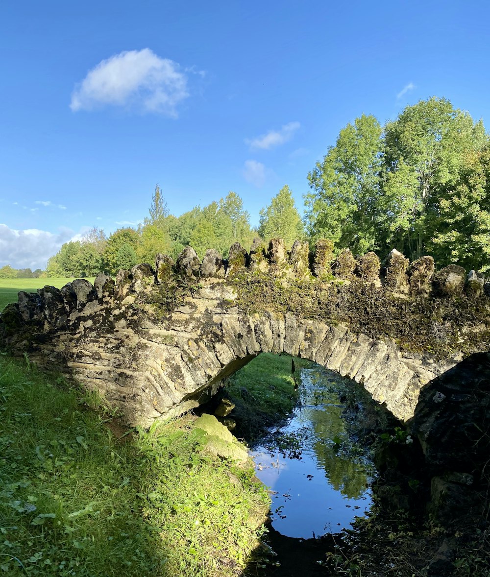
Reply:
<svg viewBox="0 0 490 577"><path fill-rule="evenodd" d="M488 138L482 122L445 98L407 106L385 129L384 193L391 238L411 258L427 251L440 200ZM400 207L403 207L401 210Z"/></svg>

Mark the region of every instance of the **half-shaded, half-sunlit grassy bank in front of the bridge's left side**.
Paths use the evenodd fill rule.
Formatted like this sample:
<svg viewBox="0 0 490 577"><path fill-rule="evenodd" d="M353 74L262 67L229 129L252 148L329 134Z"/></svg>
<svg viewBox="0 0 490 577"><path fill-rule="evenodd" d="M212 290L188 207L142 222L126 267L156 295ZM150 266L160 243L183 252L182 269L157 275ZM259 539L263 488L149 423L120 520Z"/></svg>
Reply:
<svg viewBox="0 0 490 577"><path fill-rule="evenodd" d="M0 575L242 574L268 507L253 471L205 456L192 417L107 425L93 394L0 355Z"/></svg>

